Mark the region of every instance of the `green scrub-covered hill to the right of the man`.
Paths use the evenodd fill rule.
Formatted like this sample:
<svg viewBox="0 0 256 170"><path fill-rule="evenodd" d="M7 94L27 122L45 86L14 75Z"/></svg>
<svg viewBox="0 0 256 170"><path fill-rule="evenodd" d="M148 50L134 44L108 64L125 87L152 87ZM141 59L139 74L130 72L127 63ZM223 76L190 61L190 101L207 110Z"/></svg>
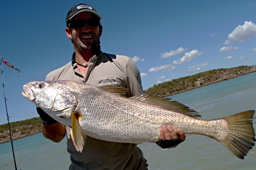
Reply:
<svg viewBox="0 0 256 170"><path fill-rule="evenodd" d="M144 90L144 92L171 95L173 93L186 91L202 85L224 81L255 70L255 67L250 66L239 66L229 69L214 69L197 73L192 76L172 79L172 81L167 81L158 85L153 85L153 87L149 87L147 90Z"/></svg>

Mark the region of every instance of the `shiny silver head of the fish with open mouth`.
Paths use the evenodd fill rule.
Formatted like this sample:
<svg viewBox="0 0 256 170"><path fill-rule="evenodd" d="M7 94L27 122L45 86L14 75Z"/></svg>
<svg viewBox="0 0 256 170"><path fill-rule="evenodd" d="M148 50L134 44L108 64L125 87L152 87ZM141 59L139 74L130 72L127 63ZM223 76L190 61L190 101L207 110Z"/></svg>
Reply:
<svg viewBox="0 0 256 170"><path fill-rule="evenodd" d="M77 107L77 99L68 81L31 81L23 86L23 96L56 120L68 119ZM58 121L58 120L57 120Z"/></svg>

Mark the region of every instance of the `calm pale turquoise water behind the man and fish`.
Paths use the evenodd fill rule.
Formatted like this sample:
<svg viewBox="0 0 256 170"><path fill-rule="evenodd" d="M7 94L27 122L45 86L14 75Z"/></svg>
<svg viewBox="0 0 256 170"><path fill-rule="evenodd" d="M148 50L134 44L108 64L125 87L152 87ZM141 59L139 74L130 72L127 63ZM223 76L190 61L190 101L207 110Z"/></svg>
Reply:
<svg viewBox="0 0 256 170"><path fill-rule="evenodd" d="M256 73L171 98L195 109L204 120L256 110ZM253 127L256 129L256 123L253 123ZM37 134L15 140L13 145L18 169L68 169L70 165L66 139L54 143L45 139L42 134ZM139 144L139 147L148 160L149 170L256 169L256 146L241 160L218 141L201 135L187 135L183 143L172 149L162 149L154 143ZM5 169L15 169L11 143L0 145L0 170Z"/></svg>

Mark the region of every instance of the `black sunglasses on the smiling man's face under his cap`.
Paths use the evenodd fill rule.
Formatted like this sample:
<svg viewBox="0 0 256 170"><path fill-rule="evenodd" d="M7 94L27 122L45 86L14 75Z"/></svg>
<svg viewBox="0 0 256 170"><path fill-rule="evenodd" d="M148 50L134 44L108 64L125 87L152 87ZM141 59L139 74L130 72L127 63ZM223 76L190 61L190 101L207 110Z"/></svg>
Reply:
<svg viewBox="0 0 256 170"><path fill-rule="evenodd" d="M89 18L89 19L74 19L69 22L69 27L72 28L82 28L84 24L87 23L88 26L99 26L100 20L95 18Z"/></svg>

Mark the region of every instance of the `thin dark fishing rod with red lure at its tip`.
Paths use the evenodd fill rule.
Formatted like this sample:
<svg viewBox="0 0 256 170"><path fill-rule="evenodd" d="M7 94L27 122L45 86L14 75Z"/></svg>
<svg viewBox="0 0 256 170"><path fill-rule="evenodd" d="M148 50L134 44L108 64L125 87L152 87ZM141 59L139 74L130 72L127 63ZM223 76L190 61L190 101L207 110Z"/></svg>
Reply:
<svg viewBox="0 0 256 170"><path fill-rule="evenodd" d="M6 60L4 60L2 57L1 57L1 73L2 73L2 82L3 82L3 90L4 90L4 79L3 79L3 68L2 68L2 61L5 65L13 68L14 70L17 70L17 71L20 71L17 67L15 67L15 65L12 65L10 63L8 63ZM20 76L22 75L21 73L19 74ZM5 93L4 93L4 101L5 101L5 109L6 109L6 115L7 115L7 121L8 121L8 125L9 125L9 132L10 132L10 138L11 138L11 144L12 144L12 134L11 134L11 128L10 128L10 123L9 123L9 117L11 116L8 116L8 111L7 111L7 105L6 105L6 98L5 98ZM17 170L17 166L16 166L16 161L15 161L15 156L14 156L14 150L13 150L13 144L12 144L12 154L13 154L13 160L14 160L14 165L15 165L15 170Z"/></svg>

